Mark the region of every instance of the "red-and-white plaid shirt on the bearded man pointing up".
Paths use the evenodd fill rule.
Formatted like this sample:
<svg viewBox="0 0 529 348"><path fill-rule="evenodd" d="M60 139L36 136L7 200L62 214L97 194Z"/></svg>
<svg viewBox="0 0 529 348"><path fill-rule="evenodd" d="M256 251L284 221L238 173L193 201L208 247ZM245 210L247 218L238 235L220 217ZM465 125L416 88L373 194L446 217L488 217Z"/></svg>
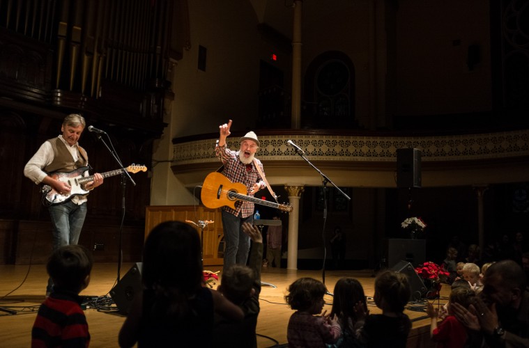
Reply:
<svg viewBox="0 0 529 348"><path fill-rule="evenodd" d="M252 162L252 164L243 164L239 159L239 151L231 151L226 145L223 145L215 148L215 155L219 157L224 164L222 174L224 174L231 182L240 182L244 184L246 186L247 196L254 196L250 191L252 191L252 187L256 182L261 185L261 189L266 187L261 175L259 175L259 172L255 168L254 162ZM261 164L259 159L256 159L256 161L262 171L263 164ZM244 194L243 192L239 193ZM246 200L238 200L235 203L235 208L235 210L230 207L223 207L222 209L235 216L238 216L240 213L243 219L254 214L254 203Z"/></svg>

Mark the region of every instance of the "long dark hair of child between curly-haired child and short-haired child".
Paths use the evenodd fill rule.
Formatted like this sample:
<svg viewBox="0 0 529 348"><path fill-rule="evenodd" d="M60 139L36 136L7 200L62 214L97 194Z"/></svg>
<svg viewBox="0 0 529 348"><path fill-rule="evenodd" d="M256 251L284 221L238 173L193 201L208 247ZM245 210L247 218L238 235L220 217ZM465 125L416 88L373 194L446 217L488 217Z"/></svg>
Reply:
<svg viewBox="0 0 529 348"><path fill-rule="evenodd" d="M331 316L337 315L340 319L358 319L355 313L355 304L362 302L367 306L364 288L355 278L341 278L335 285L332 301Z"/></svg>

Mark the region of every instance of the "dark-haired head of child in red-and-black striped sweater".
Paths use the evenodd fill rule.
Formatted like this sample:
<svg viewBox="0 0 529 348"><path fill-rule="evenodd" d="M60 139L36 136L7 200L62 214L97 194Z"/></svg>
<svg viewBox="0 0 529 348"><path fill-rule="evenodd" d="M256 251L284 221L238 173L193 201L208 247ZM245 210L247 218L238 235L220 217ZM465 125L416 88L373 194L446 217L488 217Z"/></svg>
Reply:
<svg viewBox="0 0 529 348"><path fill-rule="evenodd" d="M79 293L92 271L93 258L82 245L65 245L49 257L46 270L55 287Z"/></svg>

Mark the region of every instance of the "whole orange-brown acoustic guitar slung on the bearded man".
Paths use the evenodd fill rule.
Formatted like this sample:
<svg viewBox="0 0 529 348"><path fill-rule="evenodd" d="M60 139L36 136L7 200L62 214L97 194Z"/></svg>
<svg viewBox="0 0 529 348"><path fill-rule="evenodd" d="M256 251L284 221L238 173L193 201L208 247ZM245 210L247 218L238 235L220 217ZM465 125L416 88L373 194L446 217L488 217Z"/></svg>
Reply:
<svg viewBox="0 0 529 348"><path fill-rule="evenodd" d="M204 179L200 198L202 203L210 209L224 206L235 209L235 203L237 200L246 200L247 202L277 208L283 212L292 211L291 205L274 203L268 200L247 196L239 192L247 192L244 184L241 184L240 182L231 182L221 173L213 172L208 174L206 179Z"/></svg>

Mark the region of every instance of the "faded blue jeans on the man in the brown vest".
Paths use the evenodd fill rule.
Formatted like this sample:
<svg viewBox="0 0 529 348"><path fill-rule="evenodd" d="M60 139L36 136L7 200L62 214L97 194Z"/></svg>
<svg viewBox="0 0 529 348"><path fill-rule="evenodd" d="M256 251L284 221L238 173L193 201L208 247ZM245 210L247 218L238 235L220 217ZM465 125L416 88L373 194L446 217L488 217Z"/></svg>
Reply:
<svg viewBox="0 0 529 348"><path fill-rule="evenodd" d="M77 244L86 217L86 203L77 205L68 200L59 205L48 207L49 216L52 218L52 248L55 251L59 246ZM52 292L53 282L48 279L46 292Z"/></svg>

